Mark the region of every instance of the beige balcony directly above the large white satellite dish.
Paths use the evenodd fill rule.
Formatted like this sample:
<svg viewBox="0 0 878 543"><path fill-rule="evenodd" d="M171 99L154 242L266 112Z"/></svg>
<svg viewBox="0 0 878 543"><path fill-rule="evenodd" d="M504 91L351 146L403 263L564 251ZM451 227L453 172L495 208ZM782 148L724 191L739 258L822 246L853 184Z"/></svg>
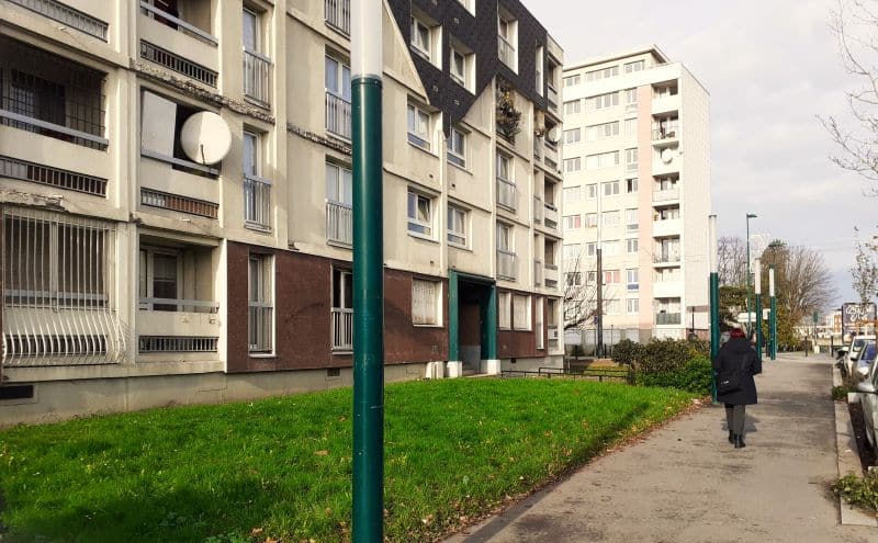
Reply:
<svg viewBox="0 0 878 543"><path fill-rule="evenodd" d="M188 2L195 19L210 26L210 2ZM199 11L199 8L206 8ZM140 58L216 88L219 41L191 21L140 0L138 19ZM161 44L160 46L158 44Z"/></svg>

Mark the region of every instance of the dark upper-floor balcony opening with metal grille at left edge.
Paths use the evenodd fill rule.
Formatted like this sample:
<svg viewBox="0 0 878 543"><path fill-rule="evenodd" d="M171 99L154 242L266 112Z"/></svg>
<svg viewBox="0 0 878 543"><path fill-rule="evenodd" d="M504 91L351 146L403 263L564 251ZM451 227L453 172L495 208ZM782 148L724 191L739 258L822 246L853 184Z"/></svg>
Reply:
<svg viewBox="0 0 878 543"><path fill-rule="evenodd" d="M104 73L0 37L0 124L105 149Z"/></svg>

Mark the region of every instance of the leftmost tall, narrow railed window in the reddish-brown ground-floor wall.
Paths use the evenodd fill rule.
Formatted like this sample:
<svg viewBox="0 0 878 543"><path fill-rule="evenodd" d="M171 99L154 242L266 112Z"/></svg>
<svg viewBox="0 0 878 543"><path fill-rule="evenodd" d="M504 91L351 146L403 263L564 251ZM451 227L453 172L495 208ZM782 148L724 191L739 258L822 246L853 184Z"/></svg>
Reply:
<svg viewBox="0 0 878 543"><path fill-rule="evenodd" d="M274 317L271 257L250 254L247 270L249 303L247 336L250 353L271 353L273 350Z"/></svg>

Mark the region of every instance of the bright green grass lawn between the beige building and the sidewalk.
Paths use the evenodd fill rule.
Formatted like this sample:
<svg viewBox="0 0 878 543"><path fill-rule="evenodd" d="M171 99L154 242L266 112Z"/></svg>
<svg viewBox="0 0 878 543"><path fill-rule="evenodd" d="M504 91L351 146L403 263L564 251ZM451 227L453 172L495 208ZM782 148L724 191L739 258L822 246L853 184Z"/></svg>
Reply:
<svg viewBox="0 0 878 543"><path fill-rule="evenodd" d="M3 541L348 541L351 396L344 388L2 431ZM430 541L691 397L561 378L389 385L386 534Z"/></svg>

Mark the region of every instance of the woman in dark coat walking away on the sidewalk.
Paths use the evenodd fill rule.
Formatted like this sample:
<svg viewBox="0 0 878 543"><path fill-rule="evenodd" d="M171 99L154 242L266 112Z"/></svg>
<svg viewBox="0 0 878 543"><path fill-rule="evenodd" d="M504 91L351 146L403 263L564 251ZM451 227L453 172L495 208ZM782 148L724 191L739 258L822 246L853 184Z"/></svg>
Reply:
<svg viewBox="0 0 878 543"><path fill-rule="evenodd" d="M750 346L744 331L735 328L729 341L720 348L713 360L717 372L717 401L725 404L725 422L729 426L729 442L735 449L744 444L745 407L756 403L756 383L753 376L762 373L762 360ZM734 391L723 391L723 384L736 384Z"/></svg>

